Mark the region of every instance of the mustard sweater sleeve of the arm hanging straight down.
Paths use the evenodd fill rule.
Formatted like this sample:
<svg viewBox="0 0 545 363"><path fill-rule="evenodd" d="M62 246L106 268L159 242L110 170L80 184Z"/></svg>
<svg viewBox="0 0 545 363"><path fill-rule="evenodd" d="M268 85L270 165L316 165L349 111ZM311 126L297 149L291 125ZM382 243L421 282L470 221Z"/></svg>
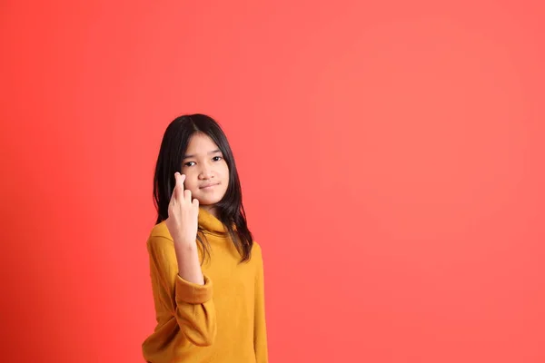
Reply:
<svg viewBox="0 0 545 363"><path fill-rule="evenodd" d="M267 363L269 361L267 348L267 327L265 323L265 291L263 278L263 256L261 247L254 242L255 255L257 259L255 274L255 305L253 318L253 349L255 350L255 361Z"/></svg>

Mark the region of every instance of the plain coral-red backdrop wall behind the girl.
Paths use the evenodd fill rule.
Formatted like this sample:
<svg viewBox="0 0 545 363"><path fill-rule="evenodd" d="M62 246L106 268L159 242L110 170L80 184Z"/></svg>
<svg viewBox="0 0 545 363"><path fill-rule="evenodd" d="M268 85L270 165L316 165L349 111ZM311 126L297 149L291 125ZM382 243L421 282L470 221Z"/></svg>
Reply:
<svg viewBox="0 0 545 363"><path fill-rule="evenodd" d="M223 124L272 362L545 361L545 8L3 1L2 358L138 362L154 162Z"/></svg>

